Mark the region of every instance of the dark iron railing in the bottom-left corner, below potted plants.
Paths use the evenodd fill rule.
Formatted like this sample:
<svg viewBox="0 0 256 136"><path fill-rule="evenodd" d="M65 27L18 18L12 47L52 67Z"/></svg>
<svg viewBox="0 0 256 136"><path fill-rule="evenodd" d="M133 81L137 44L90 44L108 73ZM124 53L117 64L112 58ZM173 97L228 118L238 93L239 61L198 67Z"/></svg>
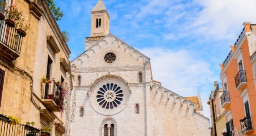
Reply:
<svg viewBox="0 0 256 136"><path fill-rule="evenodd" d="M40 133L39 131L27 130L26 125L11 124L7 120L0 118L0 136L36 136Z"/></svg>

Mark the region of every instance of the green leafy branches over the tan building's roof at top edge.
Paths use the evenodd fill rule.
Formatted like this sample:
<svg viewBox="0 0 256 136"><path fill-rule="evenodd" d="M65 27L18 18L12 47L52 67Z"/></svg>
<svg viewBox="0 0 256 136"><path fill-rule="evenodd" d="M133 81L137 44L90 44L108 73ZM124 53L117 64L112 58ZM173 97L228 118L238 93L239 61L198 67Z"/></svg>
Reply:
<svg viewBox="0 0 256 136"><path fill-rule="evenodd" d="M48 4L54 19L56 21L61 20L61 18L64 16L64 13L63 11L60 11L60 7L56 8L53 0L46 0L46 3Z"/></svg>

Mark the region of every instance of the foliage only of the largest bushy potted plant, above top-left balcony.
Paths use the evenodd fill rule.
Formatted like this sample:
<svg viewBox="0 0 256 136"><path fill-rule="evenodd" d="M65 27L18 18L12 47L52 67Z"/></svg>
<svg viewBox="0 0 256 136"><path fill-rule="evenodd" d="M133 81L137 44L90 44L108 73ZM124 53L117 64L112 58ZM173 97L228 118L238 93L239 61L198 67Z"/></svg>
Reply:
<svg viewBox="0 0 256 136"><path fill-rule="evenodd" d="M6 19L12 20L16 25L18 25L21 21L24 21L22 17L22 11L19 11L16 6L10 6L8 9L4 10Z"/></svg>

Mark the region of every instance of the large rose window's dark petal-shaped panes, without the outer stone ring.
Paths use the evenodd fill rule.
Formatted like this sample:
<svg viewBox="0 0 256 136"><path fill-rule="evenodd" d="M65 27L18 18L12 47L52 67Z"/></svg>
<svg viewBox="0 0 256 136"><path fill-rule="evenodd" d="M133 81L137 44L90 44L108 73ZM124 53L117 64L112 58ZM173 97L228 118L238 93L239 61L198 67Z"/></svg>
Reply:
<svg viewBox="0 0 256 136"><path fill-rule="evenodd" d="M121 104L123 90L117 84L104 84L97 92L97 102L102 108L113 109Z"/></svg>

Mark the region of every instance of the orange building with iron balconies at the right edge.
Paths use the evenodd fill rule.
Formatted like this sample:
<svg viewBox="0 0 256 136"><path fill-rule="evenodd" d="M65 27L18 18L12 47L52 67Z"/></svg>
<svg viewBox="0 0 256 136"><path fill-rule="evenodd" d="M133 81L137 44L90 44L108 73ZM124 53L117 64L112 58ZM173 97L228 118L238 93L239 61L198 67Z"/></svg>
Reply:
<svg viewBox="0 0 256 136"><path fill-rule="evenodd" d="M244 28L225 61L220 64L227 136L256 134L256 24L244 22Z"/></svg>

